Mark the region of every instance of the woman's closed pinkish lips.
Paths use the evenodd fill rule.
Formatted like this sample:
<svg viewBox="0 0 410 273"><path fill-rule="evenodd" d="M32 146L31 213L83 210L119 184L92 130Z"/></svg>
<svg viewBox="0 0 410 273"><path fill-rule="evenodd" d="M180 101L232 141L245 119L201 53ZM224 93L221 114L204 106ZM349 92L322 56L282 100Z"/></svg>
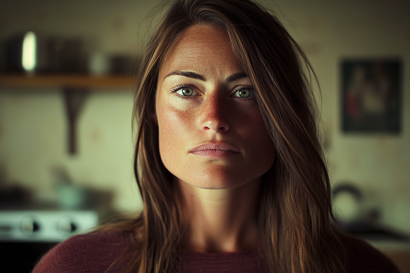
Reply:
<svg viewBox="0 0 410 273"><path fill-rule="evenodd" d="M223 158L238 154L239 149L225 142L207 142L194 147L189 152L196 156Z"/></svg>

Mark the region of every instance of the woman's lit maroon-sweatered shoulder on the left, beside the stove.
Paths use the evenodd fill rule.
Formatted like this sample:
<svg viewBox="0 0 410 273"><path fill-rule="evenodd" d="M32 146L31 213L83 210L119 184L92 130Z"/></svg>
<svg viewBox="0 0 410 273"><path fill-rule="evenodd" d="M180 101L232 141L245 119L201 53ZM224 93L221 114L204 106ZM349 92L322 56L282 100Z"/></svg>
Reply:
<svg viewBox="0 0 410 273"><path fill-rule="evenodd" d="M33 273L105 272L110 266L107 272L119 272L130 258L121 256L133 244L131 232L75 235L52 248L34 267Z"/></svg>

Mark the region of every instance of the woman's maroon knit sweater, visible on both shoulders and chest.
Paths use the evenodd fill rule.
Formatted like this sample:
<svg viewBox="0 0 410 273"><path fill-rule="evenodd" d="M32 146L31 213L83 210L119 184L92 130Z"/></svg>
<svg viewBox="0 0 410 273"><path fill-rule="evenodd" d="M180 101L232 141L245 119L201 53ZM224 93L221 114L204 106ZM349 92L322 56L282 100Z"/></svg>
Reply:
<svg viewBox="0 0 410 273"><path fill-rule="evenodd" d="M350 256L348 273L399 273L387 257L364 241L352 237L343 237L342 241ZM52 248L32 273L120 273L134 253L123 259L118 257L133 244L135 240L128 232L107 231L73 236ZM181 273L268 272L258 249L234 253L184 251L181 261Z"/></svg>

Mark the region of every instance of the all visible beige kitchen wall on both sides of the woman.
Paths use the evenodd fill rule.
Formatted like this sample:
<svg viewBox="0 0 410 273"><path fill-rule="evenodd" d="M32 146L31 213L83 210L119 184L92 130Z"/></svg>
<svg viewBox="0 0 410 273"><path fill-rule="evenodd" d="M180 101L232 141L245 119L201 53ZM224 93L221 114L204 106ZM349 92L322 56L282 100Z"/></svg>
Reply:
<svg viewBox="0 0 410 273"><path fill-rule="evenodd" d="M266 5L274 6L270 1ZM266 3L264 2L264 3ZM135 54L140 16L152 1L7 1L0 38L17 31L80 36L88 52ZM281 0L279 17L307 52L322 88L321 114L333 183L358 185L382 221L410 232L410 2ZM140 34L144 31L139 32ZM340 125L340 61L354 57L403 60L399 135L346 135ZM66 124L58 90L2 90L0 162L9 181L55 199L50 167L65 166L76 183L115 191L116 208L140 208L132 176L132 95L93 93L79 120L80 153L66 153Z"/></svg>

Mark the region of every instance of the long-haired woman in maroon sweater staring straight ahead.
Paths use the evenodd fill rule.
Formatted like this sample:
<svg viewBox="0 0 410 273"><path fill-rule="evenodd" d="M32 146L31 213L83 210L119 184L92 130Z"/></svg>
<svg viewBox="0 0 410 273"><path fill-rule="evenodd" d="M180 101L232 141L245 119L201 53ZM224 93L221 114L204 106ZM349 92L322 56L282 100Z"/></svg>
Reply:
<svg viewBox="0 0 410 273"><path fill-rule="evenodd" d="M138 77L141 216L68 239L34 272L398 272L330 225L310 68L249 0L175 2Z"/></svg>

